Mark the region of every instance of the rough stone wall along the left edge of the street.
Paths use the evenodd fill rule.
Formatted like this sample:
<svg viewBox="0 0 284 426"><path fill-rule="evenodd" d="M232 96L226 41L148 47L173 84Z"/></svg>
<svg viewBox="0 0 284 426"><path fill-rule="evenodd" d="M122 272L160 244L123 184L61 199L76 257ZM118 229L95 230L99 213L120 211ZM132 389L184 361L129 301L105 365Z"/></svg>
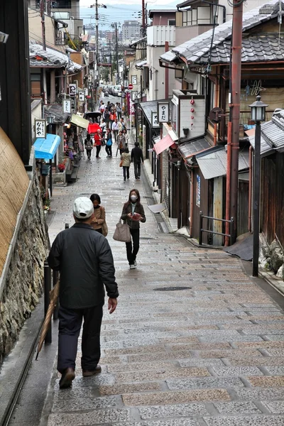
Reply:
<svg viewBox="0 0 284 426"><path fill-rule="evenodd" d="M43 291L43 263L49 239L38 178L33 173L25 201L9 264L1 276L5 275L0 297L0 364Z"/></svg>

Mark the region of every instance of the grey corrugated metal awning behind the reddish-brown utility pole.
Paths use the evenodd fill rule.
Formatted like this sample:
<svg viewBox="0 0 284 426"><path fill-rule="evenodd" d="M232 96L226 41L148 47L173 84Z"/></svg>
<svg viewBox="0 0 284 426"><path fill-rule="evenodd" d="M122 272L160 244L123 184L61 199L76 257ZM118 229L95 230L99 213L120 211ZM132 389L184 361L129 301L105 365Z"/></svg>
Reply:
<svg viewBox="0 0 284 426"><path fill-rule="evenodd" d="M216 149L217 148L217 149ZM218 149L219 148L219 149ZM207 152L196 155L196 160L204 179L226 175L226 150L224 146L213 147ZM239 171L249 168L249 150L239 151Z"/></svg>

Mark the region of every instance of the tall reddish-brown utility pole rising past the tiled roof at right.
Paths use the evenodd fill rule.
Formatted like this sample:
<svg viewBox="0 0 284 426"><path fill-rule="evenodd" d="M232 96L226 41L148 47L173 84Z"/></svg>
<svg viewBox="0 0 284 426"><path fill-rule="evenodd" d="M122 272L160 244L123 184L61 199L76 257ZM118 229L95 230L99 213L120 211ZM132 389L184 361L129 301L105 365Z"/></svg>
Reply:
<svg viewBox="0 0 284 426"><path fill-rule="evenodd" d="M233 23L231 43L231 92L229 93L230 117L228 124L227 151L227 189L226 219L234 217L234 238L236 241L238 226L238 190L239 190L239 117L241 102L241 42L243 35L243 1L233 0ZM228 182L229 181L229 182ZM226 223L226 234L229 234ZM226 245L228 241L226 241Z"/></svg>

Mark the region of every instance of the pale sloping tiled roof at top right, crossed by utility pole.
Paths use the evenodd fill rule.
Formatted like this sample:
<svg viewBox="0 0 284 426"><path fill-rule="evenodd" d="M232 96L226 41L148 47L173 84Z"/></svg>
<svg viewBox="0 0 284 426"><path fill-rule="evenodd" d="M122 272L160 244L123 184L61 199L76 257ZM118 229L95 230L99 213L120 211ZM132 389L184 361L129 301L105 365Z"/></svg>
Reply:
<svg viewBox="0 0 284 426"><path fill-rule="evenodd" d="M283 7L283 3L282 7ZM271 18L277 15L279 8L279 1L272 0L268 4L258 6L256 9L252 9L244 13L243 16L243 32L257 26L259 23L269 21ZM197 35L197 37L176 46L169 52L163 53L160 59L163 62L179 62L179 58L185 58L187 63L195 63L200 61L204 55L208 55L208 52L212 47L215 48L217 45L221 45L224 41L231 37L232 21L222 23L217 26L214 31L214 40L212 44L213 29L206 33Z"/></svg>

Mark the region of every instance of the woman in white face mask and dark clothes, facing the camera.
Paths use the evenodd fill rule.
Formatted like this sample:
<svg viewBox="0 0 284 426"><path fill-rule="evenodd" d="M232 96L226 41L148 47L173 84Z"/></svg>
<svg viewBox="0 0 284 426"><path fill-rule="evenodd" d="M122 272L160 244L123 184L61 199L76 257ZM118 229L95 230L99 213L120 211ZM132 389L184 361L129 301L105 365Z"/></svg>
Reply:
<svg viewBox="0 0 284 426"><path fill-rule="evenodd" d="M130 269L135 269L137 266L136 256L139 250L140 222L146 222L146 217L143 205L140 202L140 194L138 190L131 190L129 192L129 200L124 204L121 219L124 220L124 222L126 222L130 227L132 241L126 243L126 253Z"/></svg>

